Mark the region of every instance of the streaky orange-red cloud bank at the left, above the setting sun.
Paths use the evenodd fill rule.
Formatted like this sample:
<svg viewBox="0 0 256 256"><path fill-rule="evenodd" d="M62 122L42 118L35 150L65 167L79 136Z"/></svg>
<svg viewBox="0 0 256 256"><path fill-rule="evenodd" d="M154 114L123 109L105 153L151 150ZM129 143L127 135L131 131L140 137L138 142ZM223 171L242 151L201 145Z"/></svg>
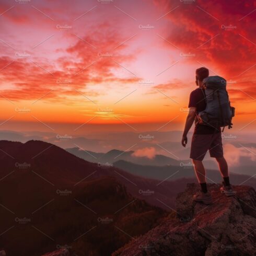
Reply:
<svg viewBox="0 0 256 256"><path fill-rule="evenodd" d="M113 74L113 70L122 69L119 63L130 62L133 56L122 53L126 48L125 44L121 44L125 38L111 24L103 26L104 33L91 29L85 37L71 35L75 43L67 49L60 49L66 54L55 62L39 58L0 57L2 85L15 85L15 88L2 90L2 97L36 100L45 95L44 100L66 101L67 96L80 95L77 90L84 90L87 84L136 82L139 78L125 69L124 78ZM87 95L97 96L99 92L90 91Z"/></svg>

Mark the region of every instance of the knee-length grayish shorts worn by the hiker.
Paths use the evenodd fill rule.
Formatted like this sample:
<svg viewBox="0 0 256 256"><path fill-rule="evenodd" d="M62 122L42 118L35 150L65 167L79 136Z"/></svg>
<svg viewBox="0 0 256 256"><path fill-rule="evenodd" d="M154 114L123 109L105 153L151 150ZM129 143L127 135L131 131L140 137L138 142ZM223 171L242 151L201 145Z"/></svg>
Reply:
<svg viewBox="0 0 256 256"><path fill-rule="evenodd" d="M211 157L223 157L222 133L193 134L190 158L202 161L209 150Z"/></svg>

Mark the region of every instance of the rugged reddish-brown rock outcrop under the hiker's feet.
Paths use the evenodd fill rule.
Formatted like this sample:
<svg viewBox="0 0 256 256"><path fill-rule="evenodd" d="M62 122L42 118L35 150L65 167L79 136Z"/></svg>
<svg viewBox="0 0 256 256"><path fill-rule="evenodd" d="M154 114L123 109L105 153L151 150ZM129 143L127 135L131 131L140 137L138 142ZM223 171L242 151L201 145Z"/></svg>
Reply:
<svg viewBox="0 0 256 256"><path fill-rule="evenodd" d="M197 184L188 184L177 196L175 219L167 219L112 255L255 255L254 189L234 186L235 196L226 197L219 185L209 184L212 205L192 201L198 189Z"/></svg>

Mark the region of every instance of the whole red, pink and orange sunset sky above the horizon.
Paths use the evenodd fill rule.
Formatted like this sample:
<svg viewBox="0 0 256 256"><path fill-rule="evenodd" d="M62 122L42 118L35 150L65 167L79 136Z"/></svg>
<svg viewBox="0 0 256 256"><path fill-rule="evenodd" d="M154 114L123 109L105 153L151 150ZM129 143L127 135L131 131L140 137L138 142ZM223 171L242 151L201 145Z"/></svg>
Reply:
<svg viewBox="0 0 256 256"><path fill-rule="evenodd" d="M58 124L181 130L195 69L206 66L228 82L234 129L253 131L255 5L3 0L0 130Z"/></svg>

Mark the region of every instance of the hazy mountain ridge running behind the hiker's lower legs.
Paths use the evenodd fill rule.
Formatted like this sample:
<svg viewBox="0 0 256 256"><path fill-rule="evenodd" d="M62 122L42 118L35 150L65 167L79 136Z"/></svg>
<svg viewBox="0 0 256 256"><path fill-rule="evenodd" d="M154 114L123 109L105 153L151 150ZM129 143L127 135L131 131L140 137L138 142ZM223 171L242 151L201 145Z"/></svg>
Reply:
<svg viewBox="0 0 256 256"><path fill-rule="evenodd" d="M184 164L180 166L143 166L136 165L128 161L119 160L114 162L113 166L149 179L168 179L169 181L174 181L181 178L195 177L192 164ZM210 183L220 183L222 181L222 177L217 170L207 170L206 176L208 178L208 182ZM242 183L243 185L250 185L256 189L256 179L252 178L251 176L231 172L230 181L235 185Z"/></svg>

